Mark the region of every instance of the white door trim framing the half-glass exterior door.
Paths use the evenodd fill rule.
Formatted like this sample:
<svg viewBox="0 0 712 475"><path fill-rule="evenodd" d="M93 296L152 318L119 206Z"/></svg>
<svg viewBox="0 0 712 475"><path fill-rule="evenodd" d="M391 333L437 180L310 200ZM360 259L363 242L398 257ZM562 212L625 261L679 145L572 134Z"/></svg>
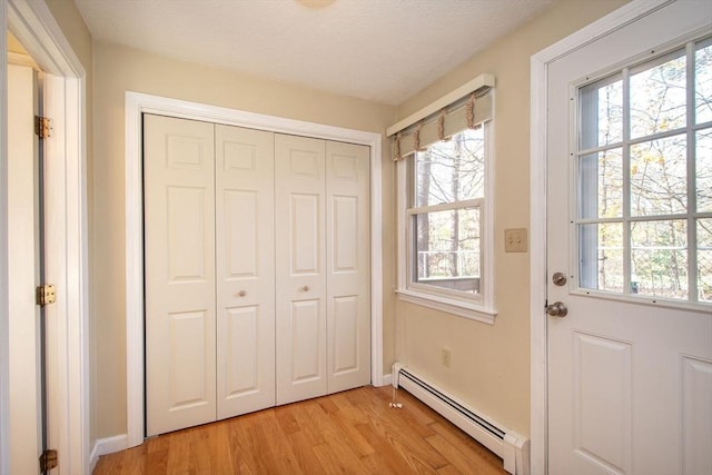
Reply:
<svg viewBox="0 0 712 475"><path fill-rule="evenodd" d="M548 66L674 0L633 0L531 58L531 473L547 471L546 120Z"/></svg>

